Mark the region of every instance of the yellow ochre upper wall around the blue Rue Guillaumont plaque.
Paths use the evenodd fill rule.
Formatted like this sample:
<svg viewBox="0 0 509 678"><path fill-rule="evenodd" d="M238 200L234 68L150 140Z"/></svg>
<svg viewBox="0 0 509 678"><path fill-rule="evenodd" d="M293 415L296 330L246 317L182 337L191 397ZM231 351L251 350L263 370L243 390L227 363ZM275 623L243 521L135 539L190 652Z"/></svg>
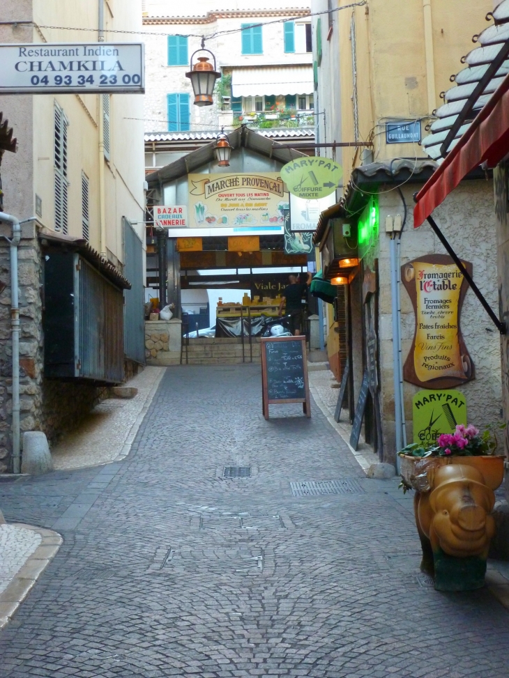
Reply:
<svg viewBox="0 0 509 678"><path fill-rule="evenodd" d="M340 0L337 6L348 5ZM340 31L340 88L342 141L354 141L351 18L355 15L359 139L372 140L374 160L426 157L418 144L385 143L386 119L423 118L453 86L459 59L478 45L472 36L485 26L492 0L369 0L367 5L337 12ZM430 22L425 21L425 16ZM426 40L426 38L428 38ZM433 77L434 75L434 77ZM342 151L344 183L360 164L360 151Z"/></svg>

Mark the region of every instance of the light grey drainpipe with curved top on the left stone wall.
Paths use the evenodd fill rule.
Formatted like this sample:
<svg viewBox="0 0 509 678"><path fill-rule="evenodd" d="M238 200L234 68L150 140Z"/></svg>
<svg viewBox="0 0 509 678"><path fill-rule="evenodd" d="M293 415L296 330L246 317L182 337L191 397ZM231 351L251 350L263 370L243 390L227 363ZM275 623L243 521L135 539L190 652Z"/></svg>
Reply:
<svg viewBox="0 0 509 678"><path fill-rule="evenodd" d="M31 219L26 219L31 221ZM17 296L17 246L21 239L20 222L13 215L0 212L0 221L13 224L10 245L10 328L13 332L13 472L21 470L20 455L20 305Z"/></svg>

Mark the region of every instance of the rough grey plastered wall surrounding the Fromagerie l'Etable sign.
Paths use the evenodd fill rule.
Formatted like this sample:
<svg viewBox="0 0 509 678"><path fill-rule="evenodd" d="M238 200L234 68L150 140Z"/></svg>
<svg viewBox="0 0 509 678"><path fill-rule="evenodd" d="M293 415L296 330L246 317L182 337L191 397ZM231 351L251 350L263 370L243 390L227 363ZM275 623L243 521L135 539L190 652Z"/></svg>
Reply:
<svg viewBox="0 0 509 678"><path fill-rule="evenodd" d="M395 459L395 407L393 385L392 309L390 291L390 236L383 232L387 215L403 216L400 195L390 186L380 187L379 238L379 356L381 371L381 407L383 446L386 461ZM402 234L401 261L404 264L425 254L446 254L443 245L427 222L413 229L413 193L419 185L402 186L407 202L407 224ZM390 192L383 192L388 191ZM495 311L498 309L496 279L496 229L493 208L492 180L466 180L453 191L434 218L455 252L473 265L473 279ZM508 267L506 267L508 270ZM404 286L401 286L402 359L409 353L415 328L415 314ZM476 378L457 387L464 393L469 422L477 426L501 419L501 355L500 337L486 311L469 288L460 318L462 334L475 364ZM412 399L420 388L404 383L404 407L407 440L413 440Z"/></svg>

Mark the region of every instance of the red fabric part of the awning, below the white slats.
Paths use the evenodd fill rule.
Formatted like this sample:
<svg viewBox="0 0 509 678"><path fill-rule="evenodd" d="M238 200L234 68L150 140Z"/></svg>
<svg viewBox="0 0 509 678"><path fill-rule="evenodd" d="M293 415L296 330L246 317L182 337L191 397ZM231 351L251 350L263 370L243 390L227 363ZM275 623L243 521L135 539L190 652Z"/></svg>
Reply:
<svg viewBox="0 0 509 678"><path fill-rule="evenodd" d="M480 111L468 130L416 196L416 229L459 182L483 162L495 165L509 153L509 75Z"/></svg>

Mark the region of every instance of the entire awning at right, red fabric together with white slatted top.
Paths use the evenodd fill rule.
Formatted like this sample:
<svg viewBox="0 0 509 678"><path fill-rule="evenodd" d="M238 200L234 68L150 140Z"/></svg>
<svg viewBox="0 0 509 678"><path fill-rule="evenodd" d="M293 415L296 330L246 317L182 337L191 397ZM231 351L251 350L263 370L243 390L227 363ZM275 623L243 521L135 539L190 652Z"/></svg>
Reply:
<svg viewBox="0 0 509 678"><path fill-rule="evenodd" d="M480 47L462 59L469 66L453 77L456 86L445 93L446 104L423 141L440 167L417 194L415 228L470 171L494 167L509 153L509 0L491 18L495 23L473 37Z"/></svg>

